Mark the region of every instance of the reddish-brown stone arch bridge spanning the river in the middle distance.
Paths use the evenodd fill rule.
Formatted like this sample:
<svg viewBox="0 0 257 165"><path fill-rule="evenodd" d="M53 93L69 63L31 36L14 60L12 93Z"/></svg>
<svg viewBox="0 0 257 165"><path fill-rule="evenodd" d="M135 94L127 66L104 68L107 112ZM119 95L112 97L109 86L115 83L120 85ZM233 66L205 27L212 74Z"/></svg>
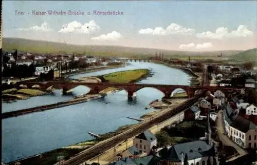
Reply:
<svg viewBox="0 0 257 165"><path fill-rule="evenodd" d="M34 85L39 85L40 89L47 88L57 88L63 89L65 94L68 90L75 88L77 86L86 86L90 88L88 94L98 94L102 90L108 87L114 87L118 89L125 90L127 92L128 98L132 98L133 93L137 92L142 88L155 88L164 94L165 98L169 98L172 92L176 89L183 89L186 91L189 98L193 97L195 92L198 90L208 90L215 92L216 90L222 91L224 94L228 94L231 91L241 90L239 88L233 87L201 87L201 86L180 86L180 85L158 85L158 84L134 84L134 83L73 83L73 82L60 82L60 81L48 81L47 83L33 83L33 82L17 82L16 85L20 87L21 85L27 86L27 88L32 88Z"/></svg>

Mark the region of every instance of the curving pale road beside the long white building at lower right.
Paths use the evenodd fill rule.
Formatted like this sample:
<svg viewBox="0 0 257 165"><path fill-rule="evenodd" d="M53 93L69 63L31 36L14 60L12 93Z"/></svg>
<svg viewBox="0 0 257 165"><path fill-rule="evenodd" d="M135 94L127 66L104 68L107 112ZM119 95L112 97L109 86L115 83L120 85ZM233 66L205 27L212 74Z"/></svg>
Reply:
<svg viewBox="0 0 257 165"><path fill-rule="evenodd" d="M223 122L223 113L221 113L221 112L222 111L219 111L218 114L217 114L217 135L218 135L219 140L221 140L224 145L231 146L234 149L236 149L236 151L240 154L240 155L238 155L238 157L241 157L241 156L244 156L244 155L248 154L247 151L245 151L241 147L237 146L225 134L225 124Z"/></svg>

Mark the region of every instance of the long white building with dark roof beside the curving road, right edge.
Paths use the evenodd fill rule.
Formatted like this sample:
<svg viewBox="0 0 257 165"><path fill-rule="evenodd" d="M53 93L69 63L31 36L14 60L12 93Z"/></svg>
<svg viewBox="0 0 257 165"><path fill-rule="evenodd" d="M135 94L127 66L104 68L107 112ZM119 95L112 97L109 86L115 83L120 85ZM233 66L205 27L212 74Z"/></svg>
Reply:
<svg viewBox="0 0 257 165"><path fill-rule="evenodd" d="M257 126L238 115L235 110L228 105L223 113L225 130L231 140L242 148L256 148Z"/></svg>

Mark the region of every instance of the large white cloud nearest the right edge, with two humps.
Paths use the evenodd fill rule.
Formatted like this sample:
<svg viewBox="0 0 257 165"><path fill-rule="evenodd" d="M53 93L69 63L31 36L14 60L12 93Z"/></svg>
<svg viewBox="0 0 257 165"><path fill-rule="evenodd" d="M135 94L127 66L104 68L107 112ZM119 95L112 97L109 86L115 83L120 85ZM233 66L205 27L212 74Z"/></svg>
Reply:
<svg viewBox="0 0 257 165"><path fill-rule="evenodd" d="M220 27L216 29L215 33L212 33L210 31L198 33L196 34L197 38L211 38L211 39L221 39L223 37L246 37L253 35L253 32L250 31L247 26L240 25L236 30L232 30L231 32L228 32L227 28Z"/></svg>

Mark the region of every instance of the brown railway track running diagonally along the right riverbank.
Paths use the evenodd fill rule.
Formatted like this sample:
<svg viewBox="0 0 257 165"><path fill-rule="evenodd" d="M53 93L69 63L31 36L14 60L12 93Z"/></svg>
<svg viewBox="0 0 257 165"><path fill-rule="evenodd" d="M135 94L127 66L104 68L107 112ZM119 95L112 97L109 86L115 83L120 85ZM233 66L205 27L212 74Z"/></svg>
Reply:
<svg viewBox="0 0 257 165"><path fill-rule="evenodd" d="M157 116L156 118L153 118L151 121L142 122L138 126L134 127L133 129L127 130L127 131L117 135L115 138L112 137L110 139L102 141L102 142L98 143L97 145L80 152L76 156L71 157L70 159L68 159L66 161L59 162L56 164L75 165L75 164L81 164L81 163L85 162L86 160L94 158L97 155L114 147L116 143L122 142L122 141L126 140L127 138L134 137L134 136L140 134L141 132L151 128L151 126L161 123L161 122L175 116L177 113L186 110L187 108L189 108L190 106L195 104L195 102L197 102L201 96L205 95L205 93L206 93L206 90L201 91L200 94L197 94L194 97L188 99L182 105L179 105L178 107L176 107L174 109L170 109L170 111L167 111L166 113L163 113L162 115Z"/></svg>

